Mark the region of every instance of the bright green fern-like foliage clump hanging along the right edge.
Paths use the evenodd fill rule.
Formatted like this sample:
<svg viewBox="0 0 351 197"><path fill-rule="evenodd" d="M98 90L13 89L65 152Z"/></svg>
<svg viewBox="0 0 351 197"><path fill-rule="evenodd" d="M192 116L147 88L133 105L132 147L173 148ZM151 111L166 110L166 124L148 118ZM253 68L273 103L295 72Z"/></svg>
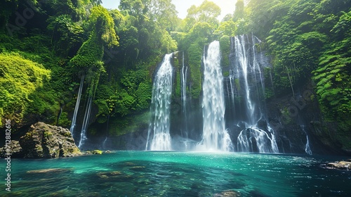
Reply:
<svg viewBox="0 0 351 197"><path fill-rule="evenodd" d="M319 67L314 70L313 79L317 82L317 95L326 118L350 120L351 117L351 80L350 80L350 30L340 29L351 25L351 12L344 13L333 31L338 34L338 42L319 58Z"/></svg>

